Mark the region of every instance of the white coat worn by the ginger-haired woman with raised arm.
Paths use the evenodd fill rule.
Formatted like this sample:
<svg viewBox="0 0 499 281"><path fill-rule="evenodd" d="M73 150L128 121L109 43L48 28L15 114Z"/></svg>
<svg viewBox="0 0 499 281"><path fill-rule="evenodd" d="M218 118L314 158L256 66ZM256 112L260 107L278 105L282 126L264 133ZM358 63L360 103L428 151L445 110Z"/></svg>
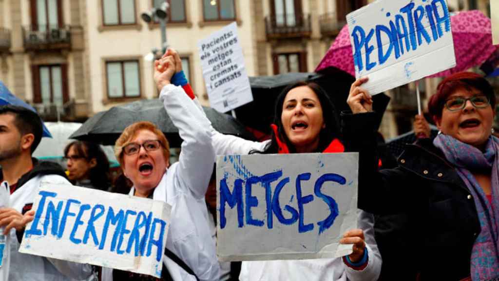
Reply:
<svg viewBox="0 0 499 281"><path fill-rule="evenodd" d="M200 280L218 280L219 263L205 203L215 157L210 124L197 121L201 112L181 87L167 85L160 97L184 140L179 161L166 170L153 192L154 200L172 206L166 247L187 263ZM130 194L134 191L132 187ZM196 280L166 255L163 260L174 280ZM112 269L103 268L102 280L112 280Z"/></svg>

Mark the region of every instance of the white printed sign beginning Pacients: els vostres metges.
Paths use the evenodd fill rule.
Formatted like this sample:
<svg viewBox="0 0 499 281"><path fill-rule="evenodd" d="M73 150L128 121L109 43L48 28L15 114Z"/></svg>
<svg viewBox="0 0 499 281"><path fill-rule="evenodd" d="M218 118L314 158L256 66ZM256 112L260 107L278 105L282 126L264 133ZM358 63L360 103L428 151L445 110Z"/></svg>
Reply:
<svg viewBox="0 0 499 281"><path fill-rule="evenodd" d="M252 101L236 22L200 40L198 46L211 107L226 112Z"/></svg>

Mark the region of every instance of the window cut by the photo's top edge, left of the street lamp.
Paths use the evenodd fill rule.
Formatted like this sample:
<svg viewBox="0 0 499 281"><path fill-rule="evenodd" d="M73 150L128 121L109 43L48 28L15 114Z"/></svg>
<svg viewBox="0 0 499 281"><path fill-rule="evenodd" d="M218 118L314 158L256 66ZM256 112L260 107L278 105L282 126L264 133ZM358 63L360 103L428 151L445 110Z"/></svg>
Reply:
<svg viewBox="0 0 499 281"><path fill-rule="evenodd" d="M102 0L104 25L135 24L135 0Z"/></svg>

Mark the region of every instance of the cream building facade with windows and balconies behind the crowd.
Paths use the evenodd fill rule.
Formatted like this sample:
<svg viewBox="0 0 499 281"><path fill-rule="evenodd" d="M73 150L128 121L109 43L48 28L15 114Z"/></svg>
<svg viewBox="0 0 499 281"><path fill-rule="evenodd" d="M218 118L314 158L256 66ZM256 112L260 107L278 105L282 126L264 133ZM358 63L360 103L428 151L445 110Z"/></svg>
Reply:
<svg viewBox="0 0 499 281"><path fill-rule="evenodd" d="M111 106L158 96L153 61L161 48L157 20L141 13L165 0L0 0L0 79L46 120L85 120ZM311 72L345 16L373 0L166 0L168 44L202 103L209 104L198 40L236 21L251 76ZM488 0L448 0L453 10ZM423 104L438 79L421 81ZM414 83L389 91L381 131L389 138L410 129Z"/></svg>

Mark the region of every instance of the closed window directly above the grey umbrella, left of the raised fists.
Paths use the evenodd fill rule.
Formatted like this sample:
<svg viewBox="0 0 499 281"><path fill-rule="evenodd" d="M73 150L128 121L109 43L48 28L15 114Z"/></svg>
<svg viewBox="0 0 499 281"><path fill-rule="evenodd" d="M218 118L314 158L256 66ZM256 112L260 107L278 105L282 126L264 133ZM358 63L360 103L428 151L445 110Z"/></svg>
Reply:
<svg viewBox="0 0 499 281"><path fill-rule="evenodd" d="M106 62L107 96L109 98L139 97L139 69L138 60Z"/></svg>

